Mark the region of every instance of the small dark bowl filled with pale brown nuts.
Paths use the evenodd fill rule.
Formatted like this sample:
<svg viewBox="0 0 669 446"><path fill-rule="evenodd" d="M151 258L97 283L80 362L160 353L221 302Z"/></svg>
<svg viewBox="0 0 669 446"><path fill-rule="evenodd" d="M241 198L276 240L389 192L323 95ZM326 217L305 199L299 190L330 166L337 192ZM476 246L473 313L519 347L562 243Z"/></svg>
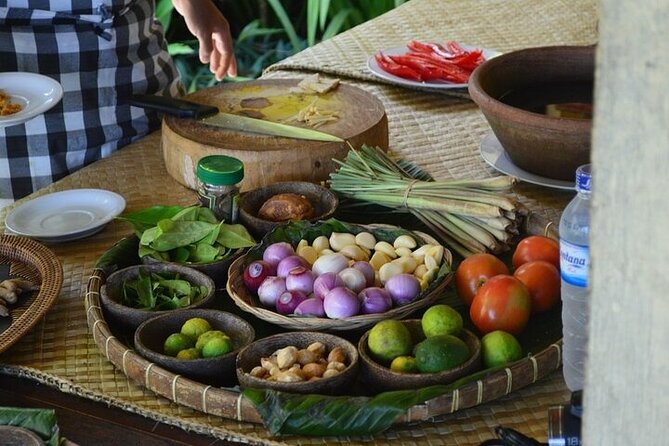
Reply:
<svg viewBox="0 0 669 446"><path fill-rule="evenodd" d="M346 353L346 369L330 378L294 383L268 381L251 376L251 370L260 365L260 358L267 358L275 351L289 345L293 345L297 349L303 349L313 342L322 342L327 352L330 352L334 347L342 347ZM357 373L358 351L355 346L339 336L316 331L288 332L269 336L251 343L237 355L237 379L242 387L303 394L336 395L350 390Z"/></svg>

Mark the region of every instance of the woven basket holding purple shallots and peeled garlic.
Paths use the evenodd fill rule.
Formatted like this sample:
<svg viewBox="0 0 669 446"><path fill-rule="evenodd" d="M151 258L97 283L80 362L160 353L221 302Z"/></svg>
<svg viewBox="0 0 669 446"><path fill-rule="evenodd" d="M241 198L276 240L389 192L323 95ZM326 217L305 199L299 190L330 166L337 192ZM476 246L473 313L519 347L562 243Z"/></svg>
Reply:
<svg viewBox="0 0 669 446"><path fill-rule="evenodd" d="M376 229L400 229L388 225L354 225L357 228L364 228L374 233ZM375 234L376 235L376 234ZM421 238L425 243L439 244L431 236L422 232L413 231L413 235ZM453 274L448 273L437 280L440 282L425 292L421 293L418 298L401 307L392 308L385 313L377 314L361 314L357 316L347 317L345 319L328 319L325 317L291 317L284 316L264 308L258 297L249 292L244 285L244 267L249 262L248 255L235 260L230 265L228 270L228 284L227 291L235 304L243 311L256 316L259 319L278 325L290 330L307 330L307 331L351 331L358 329L366 329L383 319L403 319L411 313L431 305L440 297L442 297L446 286L451 281ZM444 262L450 267L452 258L448 250L444 253Z"/></svg>

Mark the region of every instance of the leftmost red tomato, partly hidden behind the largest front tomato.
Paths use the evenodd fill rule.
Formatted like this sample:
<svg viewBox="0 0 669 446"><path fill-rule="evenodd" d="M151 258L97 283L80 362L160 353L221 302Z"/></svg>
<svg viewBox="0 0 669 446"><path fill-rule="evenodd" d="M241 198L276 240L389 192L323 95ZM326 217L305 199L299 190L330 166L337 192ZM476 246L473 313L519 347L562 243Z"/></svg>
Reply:
<svg viewBox="0 0 669 446"><path fill-rule="evenodd" d="M474 254L467 257L455 270L458 296L467 305L471 305L481 285L498 274L509 274L509 268L494 255Z"/></svg>

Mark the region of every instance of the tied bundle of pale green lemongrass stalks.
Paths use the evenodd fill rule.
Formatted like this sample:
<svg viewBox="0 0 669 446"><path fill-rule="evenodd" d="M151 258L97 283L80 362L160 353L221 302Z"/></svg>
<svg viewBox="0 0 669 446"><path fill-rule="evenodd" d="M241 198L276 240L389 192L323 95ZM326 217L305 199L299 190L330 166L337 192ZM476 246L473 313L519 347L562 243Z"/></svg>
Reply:
<svg viewBox="0 0 669 446"><path fill-rule="evenodd" d="M351 148L330 174L338 194L410 212L463 256L500 253L518 234L525 208L505 195L515 179L435 181L418 166L377 147Z"/></svg>

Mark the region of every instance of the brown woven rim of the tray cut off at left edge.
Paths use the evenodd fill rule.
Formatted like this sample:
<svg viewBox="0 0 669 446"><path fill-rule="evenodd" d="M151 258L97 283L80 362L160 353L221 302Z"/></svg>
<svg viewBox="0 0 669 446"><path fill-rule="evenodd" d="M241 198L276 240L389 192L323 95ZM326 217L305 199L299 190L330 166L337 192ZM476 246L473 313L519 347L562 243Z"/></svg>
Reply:
<svg viewBox="0 0 669 446"><path fill-rule="evenodd" d="M40 289L23 313L0 333L0 353L14 345L51 309L63 285L63 267L58 257L45 245L18 235L0 235L0 257L35 268L40 275ZM19 302L13 307L20 307ZM12 312L12 308L10 308Z"/></svg>

